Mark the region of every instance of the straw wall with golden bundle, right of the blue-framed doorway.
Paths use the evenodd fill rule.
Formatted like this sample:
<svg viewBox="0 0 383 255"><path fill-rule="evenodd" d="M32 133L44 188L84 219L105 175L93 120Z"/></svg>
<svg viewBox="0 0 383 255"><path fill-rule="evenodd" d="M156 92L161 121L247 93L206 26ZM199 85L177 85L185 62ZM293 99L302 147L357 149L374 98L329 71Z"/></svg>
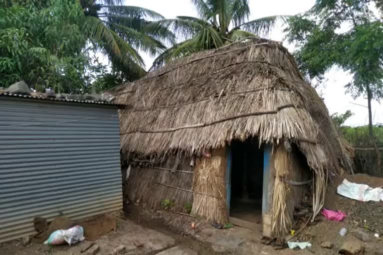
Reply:
<svg viewBox="0 0 383 255"><path fill-rule="evenodd" d="M272 232L274 236L286 234L294 223L294 208L308 190L308 185L292 185L288 181L303 182L311 178L305 157L293 146L288 152L283 145L273 153L275 180L272 207ZM286 181L287 180L287 181Z"/></svg>

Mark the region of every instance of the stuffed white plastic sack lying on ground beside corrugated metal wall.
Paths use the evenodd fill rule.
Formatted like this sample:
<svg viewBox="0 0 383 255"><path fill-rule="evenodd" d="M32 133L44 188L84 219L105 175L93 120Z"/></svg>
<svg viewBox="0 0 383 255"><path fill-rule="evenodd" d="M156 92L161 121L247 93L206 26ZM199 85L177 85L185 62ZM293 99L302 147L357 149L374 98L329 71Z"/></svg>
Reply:
<svg viewBox="0 0 383 255"><path fill-rule="evenodd" d="M69 245L83 241L84 229L78 225L67 230L56 230L50 234L49 238L44 242L45 245L62 245L68 243Z"/></svg>

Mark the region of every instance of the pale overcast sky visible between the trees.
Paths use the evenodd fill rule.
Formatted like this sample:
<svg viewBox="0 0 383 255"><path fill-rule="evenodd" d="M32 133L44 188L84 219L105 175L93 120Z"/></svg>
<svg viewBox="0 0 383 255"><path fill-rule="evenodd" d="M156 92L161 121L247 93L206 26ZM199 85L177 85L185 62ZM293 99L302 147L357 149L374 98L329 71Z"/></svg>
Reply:
<svg viewBox="0 0 383 255"><path fill-rule="evenodd" d="M136 5L155 10L166 18L174 18L175 16L197 16L190 0L125 0L127 5ZM304 12L313 6L315 0L249 0L251 16L255 19L262 16L270 16L277 14L294 15ZM283 41L284 34L282 28L276 28L269 35L272 40ZM290 52L294 50L293 45L283 43ZM153 59L147 55L143 55L147 68L152 65ZM351 110L355 115L350 118L346 124L351 126L361 126L368 124L367 99L360 97L354 100L351 95L345 94L346 85L351 80L351 76L342 70L333 68L326 75L327 81L325 87L317 89L319 95L324 98L330 114L344 113ZM354 103L354 104L352 104ZM358 104L358 105L355 105ZM359 106L362 105L362 106ZM373 120L374 123L383 123L383 106L374 101Z"/></svg>

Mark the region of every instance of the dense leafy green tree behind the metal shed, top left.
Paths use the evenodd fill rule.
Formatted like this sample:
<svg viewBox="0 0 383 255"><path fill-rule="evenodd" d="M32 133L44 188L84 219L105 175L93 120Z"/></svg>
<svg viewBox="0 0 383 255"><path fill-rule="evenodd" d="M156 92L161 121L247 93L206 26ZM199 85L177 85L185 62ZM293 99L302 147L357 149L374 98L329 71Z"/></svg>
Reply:
<svg viewBox="0 0 383 255"><path fill-rule="evenodd" d="M0 2L0 87L25 80L72 92L84 84L82 9L76 0Z"/></svg>

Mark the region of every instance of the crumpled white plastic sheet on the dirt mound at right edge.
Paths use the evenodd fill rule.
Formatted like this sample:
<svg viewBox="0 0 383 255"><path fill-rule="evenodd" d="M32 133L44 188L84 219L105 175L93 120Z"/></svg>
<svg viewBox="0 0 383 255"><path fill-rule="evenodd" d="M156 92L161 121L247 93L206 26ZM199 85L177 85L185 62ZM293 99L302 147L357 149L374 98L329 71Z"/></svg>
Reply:
<svg viewBox="0 0 383 255"><path fill-rule="evenodd" d="M342 196L363 202L383 200L383 189L371 188L369 185L349 182L346 179L338 186L337 192Z"/></svg>

